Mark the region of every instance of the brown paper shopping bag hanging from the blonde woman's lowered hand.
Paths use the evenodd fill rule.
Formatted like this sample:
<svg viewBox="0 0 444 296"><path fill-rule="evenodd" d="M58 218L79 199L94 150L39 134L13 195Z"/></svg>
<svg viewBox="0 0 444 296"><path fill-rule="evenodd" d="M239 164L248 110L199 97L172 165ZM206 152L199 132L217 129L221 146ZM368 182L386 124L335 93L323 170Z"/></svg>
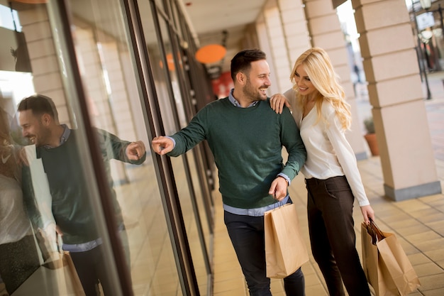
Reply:
<svg viewBox="0 0 444 296"><path fill-rule="evenodd" d="M396 236L361 224L362 265L377 296L404 296L421 284Z"/></svg>

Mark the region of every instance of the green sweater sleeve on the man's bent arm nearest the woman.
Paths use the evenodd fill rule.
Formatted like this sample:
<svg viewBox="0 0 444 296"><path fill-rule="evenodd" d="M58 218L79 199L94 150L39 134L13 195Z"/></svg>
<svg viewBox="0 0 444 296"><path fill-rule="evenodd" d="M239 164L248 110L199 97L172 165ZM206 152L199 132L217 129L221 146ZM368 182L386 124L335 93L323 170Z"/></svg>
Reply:
<svg viewBox="0 0 444 296"><path fill-rule="evenodd" d="M296 122L288 108L284 108L282 112L281 124L281 142L288 153L288 160L282 169L282 173L287 175L290 180L293 180L299 173L302 165L304 165L307 153L299 133L299 128L296 126Z"/></svg>

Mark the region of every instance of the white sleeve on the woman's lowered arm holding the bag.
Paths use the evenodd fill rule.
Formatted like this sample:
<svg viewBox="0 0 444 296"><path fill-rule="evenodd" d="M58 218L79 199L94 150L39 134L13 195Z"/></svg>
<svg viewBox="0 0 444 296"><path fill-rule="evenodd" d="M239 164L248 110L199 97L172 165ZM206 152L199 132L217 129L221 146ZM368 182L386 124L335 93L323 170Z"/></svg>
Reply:
<svg viewBox="0 0 444 296"><path fill-rule="evenodd" d="M335 150L338 162L343 168L345 177L360 207L366 206L370 204L370 202L365 194L364 185L362 185L355 153L350 143L348 143L347 138L345 138L345 133L342 131L338 116L335 116L335 112L333 111L333 113L328 114L326 118L329 124L326 133Z"/></svg>

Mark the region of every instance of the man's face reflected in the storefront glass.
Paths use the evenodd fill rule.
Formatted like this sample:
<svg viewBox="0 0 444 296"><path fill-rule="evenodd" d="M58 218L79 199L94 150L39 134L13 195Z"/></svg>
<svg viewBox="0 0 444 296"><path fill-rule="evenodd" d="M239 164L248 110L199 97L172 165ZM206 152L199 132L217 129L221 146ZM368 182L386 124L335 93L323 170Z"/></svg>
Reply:
<svg viewBox="0 0 444 296"><path fill-rule="evenodd" d="M28 138L35 146L47 144L50 138L50 129L43 124L43 116L35 116L32 110L20 111L18 114L23 137Z"/></svg>

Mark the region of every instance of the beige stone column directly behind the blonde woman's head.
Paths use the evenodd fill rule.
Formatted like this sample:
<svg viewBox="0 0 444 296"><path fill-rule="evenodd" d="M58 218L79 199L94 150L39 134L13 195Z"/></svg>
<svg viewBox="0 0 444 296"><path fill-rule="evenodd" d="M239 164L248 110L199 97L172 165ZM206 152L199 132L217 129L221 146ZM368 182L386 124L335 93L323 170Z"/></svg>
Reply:
<svg viewBox="0 0 444 296"><path fill-rule="evenodd" d="M355 100L353 82L350 75L350 64L348 51L345 44L345 37L340 28L340 22L331 0L307 0L306 19L309 22L309 32L311 43L315 47L326 50L331 58L335 72L341 79L347 102L351 106L352 126L347 133L348 141L355 151L357 160L367 158L367 150L364 145L364 138L361 131L361 121L359 118Z"/></svg>

